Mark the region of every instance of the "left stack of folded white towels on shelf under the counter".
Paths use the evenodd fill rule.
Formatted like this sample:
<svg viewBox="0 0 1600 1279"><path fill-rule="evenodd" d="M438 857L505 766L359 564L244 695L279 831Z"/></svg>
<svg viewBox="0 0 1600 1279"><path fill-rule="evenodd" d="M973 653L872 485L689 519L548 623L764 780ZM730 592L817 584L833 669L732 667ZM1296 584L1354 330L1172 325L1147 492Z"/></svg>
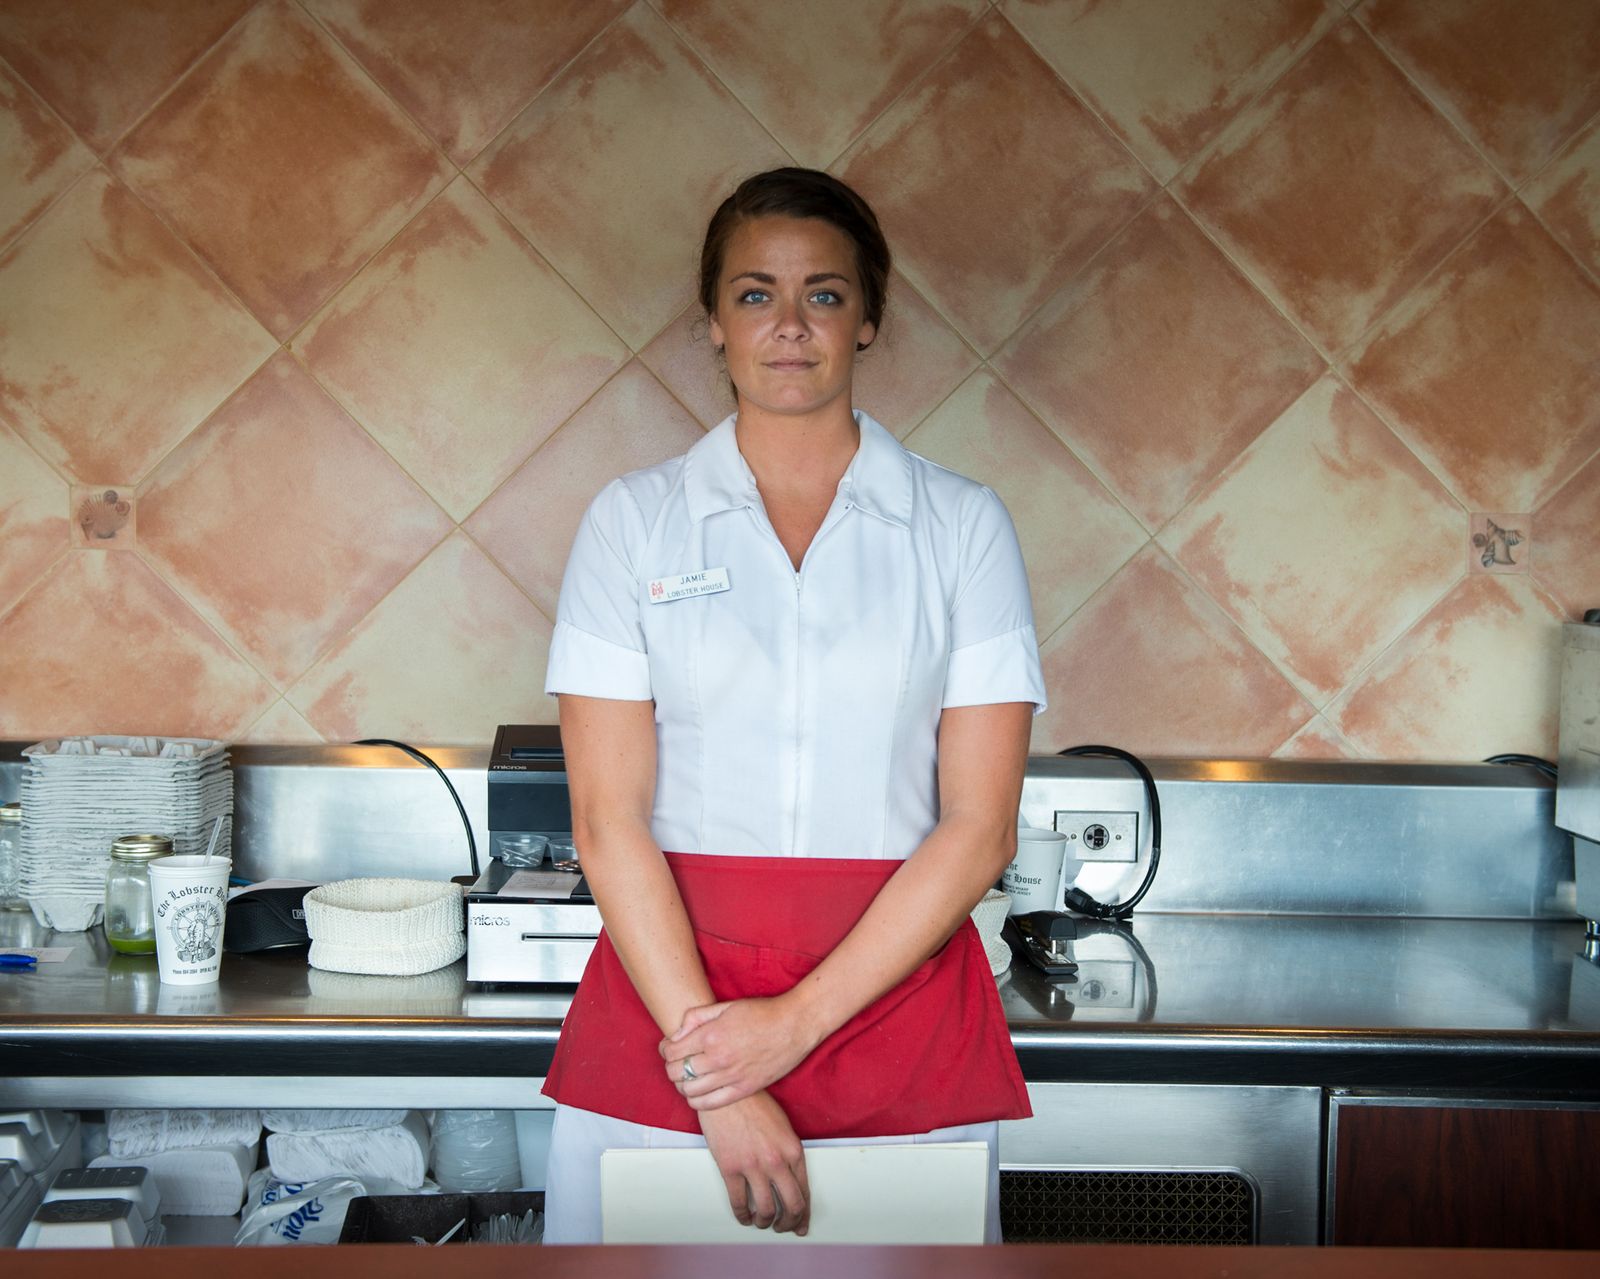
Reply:
<svg viewBox="0 0 1600 1279"><path fill-rule="evenodd" d="M261 1111L107 1111L106 1138L90 1167L149 1169L163 1213L232 1217L261 1151Z"/></svg>

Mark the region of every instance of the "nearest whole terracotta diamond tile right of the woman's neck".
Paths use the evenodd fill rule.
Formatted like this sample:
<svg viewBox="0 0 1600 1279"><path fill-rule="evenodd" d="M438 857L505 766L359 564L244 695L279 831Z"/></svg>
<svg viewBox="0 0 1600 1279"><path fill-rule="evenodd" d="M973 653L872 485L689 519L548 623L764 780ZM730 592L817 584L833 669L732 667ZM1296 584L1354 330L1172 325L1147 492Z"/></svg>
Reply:
<svg viewBox="0 0 1600 1279"><path fill-rule="evenodd" d="M1149 528L1326 368L1166 197L1051 298L995 367Z"/></svg>

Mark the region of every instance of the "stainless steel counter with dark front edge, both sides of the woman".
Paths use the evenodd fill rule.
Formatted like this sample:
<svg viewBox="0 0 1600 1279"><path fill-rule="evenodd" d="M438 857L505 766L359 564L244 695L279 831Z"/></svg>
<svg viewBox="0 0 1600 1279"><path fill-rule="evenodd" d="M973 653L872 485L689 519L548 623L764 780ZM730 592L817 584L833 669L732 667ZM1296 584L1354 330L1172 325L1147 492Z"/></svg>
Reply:
<svg viewBox="0 0 1600 1279"><path fill-rule="evenodd" d="M1075 984L1000 978L1030 1081L1600 1093L1600 967L1576 922L1147 914L1134 938L1082 938ZM277 951L181 988L98 930L43 944L72 954L0 975L11 1105L331 1106L382 1079L386 1105L437 1106L445 1085L456 1106L530 1106L568 1004L472 986L459 962L352 976Z"/></svg>

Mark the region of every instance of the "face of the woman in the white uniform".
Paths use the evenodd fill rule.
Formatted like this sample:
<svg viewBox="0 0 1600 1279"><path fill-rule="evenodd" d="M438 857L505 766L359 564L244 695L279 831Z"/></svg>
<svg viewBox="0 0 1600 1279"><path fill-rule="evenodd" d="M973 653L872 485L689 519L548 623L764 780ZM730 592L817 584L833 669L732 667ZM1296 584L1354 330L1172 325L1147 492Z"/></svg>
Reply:
<svg viewBox="0 0 1600 1279"><path fill-rule="evenodd" d="M710 339L741 408L848 410L856 346L877 333L862 315L854 247L832 223L754 218L728 239Z"/></svg>

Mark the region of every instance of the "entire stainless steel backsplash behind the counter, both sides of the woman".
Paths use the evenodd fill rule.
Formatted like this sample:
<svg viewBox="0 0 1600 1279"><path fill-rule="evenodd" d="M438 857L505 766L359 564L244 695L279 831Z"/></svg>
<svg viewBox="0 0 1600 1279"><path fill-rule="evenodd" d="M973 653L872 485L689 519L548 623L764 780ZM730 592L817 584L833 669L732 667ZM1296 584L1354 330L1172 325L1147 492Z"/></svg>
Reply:
<svg viewBox="0 0 1600 1279"><path fill-rule="evenodd" d="M0 800L21 789L0 743ZM426 748L450 775L488 856L488 749ZM248 879L416 876L469 869L443 783L397 751L235 746L235 871ZM1163 823L1147 911L1571 917L1571 839L1554 786L1531 768L1293 760L1150 760ZM1029 760L1022 815L1147 813L1115 760ZM1102 901L1138 884L1136 863L1086 866Z"/></svg>

